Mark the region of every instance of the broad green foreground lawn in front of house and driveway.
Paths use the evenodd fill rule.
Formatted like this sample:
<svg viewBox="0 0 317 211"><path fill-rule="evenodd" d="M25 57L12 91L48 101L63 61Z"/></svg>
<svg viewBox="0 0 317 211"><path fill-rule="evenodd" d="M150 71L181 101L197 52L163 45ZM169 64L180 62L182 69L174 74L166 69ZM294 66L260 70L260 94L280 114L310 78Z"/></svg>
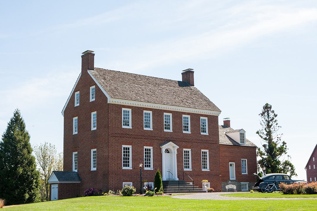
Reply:
<svg viewBox="0 0 317 211"><path fill-rule="evenodd" d="M174 199L169 196L138 197L138 196L91 196L74 199L40 202L15 207L9 210L316 210L317 200L188 200Z"/></svg>

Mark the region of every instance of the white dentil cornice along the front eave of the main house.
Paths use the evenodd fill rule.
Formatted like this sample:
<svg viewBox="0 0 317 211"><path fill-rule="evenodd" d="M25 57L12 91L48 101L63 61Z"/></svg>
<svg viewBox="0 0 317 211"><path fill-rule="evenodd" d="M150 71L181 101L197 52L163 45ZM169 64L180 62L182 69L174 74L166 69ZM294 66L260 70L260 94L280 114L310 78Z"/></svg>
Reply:
<svg viewBox="0 0 317 211"><path fill-rule="evenodd" d="M116 99L116 98L110 98L110 100L108 100L108 103L129 105L129 106L136 106L136 107L143 107L143 108L152 108L152 109L181 111L181 112L205 114L205 115L213 115L213 116L219 116L221 113L221 111L194 109L194 108L187 108L187 107L181 107L181 106L171 106L171 105L164 105L164 104L157 104L157 103L150 103L150 102L139 102L139 101L133 101L133 100L123 100L123 99Z"/></svg>

